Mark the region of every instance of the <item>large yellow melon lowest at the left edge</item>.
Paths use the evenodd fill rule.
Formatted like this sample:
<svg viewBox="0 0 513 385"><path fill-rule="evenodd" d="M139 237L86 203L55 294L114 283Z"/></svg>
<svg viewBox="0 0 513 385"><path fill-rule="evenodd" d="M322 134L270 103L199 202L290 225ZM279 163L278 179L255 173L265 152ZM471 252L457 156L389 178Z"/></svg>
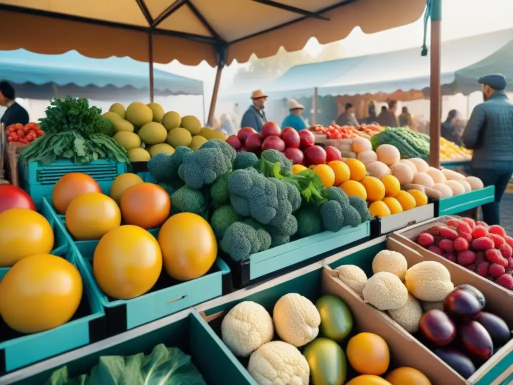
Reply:
<svg viewBox="0 0 513 385"><path fill-rule="evenodd" d="M82 300L82 278L61 257L31 255L0 282L0 315L11 329L38 333L68 322Z"/></svg>

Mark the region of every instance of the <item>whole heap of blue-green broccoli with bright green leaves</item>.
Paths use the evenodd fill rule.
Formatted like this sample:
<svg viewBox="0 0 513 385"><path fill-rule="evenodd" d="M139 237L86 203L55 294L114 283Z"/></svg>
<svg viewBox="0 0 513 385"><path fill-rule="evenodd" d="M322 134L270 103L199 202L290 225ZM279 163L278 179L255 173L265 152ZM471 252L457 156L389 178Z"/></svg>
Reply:
<svg viewBox="0 0 513 385"><path fill-rule="evenodd" d="M221 249L235 261L370 219L363 199L324 188L311 169L292 174L292 162L274 149L259 159L210 140L198 151L177 147L172 155L158 154L148 171L170 195L172 214L207 219Z"/></svg>

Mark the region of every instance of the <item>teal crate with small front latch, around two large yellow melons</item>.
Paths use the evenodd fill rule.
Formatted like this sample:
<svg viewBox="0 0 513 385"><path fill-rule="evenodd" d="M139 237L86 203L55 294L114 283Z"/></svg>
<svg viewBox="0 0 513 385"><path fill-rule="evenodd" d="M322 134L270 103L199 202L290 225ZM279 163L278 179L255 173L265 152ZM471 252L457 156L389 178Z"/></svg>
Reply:
<svg viewBox="0 0 513 385"><path fill-rule="evenodd" d="M158 231L152 229L150 233L156 236ZM92 271L97 244L98 241L77 241L74 247L78 262L84 267L85 279L105 307L109 335L125 332L231 291L230 269L217 258L203 277L179 282L171 279L163 268L159 280L148 293L129 300L110 298L97 285Z"/></svg>

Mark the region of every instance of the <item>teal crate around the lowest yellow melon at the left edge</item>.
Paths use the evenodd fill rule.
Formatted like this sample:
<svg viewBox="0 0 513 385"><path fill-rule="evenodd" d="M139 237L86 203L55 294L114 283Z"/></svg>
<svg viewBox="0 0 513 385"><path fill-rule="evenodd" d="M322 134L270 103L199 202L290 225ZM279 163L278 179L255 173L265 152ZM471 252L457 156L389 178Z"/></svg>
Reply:
<svg viewBox="0 0 513 385"><path fill-rule="evenodd" d="M57 224L58 226L58 224ZM0 374L17 370L34 362L80 348L106 337L105 311L91 285L84 279L84 268L77 263L75 248L57 247L53 255L73 263L83 277L84 294L73 318L64 325L41 333L23 335L0 320ZM7 272L5 272L7 273ZM3 278L0 277L0 279ZM0 382L2 378L0 377Z"/></svg>

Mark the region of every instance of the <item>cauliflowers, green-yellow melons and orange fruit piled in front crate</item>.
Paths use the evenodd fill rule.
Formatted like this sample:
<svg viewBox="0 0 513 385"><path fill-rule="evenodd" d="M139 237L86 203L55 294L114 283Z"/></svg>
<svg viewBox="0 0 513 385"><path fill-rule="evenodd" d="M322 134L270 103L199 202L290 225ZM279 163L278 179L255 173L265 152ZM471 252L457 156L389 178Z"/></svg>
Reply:
<svg viewBox="0 0 513 385"><path fill-rule="evenodd" d="M249 358L247 370L260 385L431 384L424 374L407 367L380 377L390 365L388 344L373 333L349 338L353 326L351 310L339 297L325 295L313 304L289 293L274 304L272 317L257 302L235 305L223 318L221 337L235 356ZM356 372L348 382L347 362Z"/></svg>

